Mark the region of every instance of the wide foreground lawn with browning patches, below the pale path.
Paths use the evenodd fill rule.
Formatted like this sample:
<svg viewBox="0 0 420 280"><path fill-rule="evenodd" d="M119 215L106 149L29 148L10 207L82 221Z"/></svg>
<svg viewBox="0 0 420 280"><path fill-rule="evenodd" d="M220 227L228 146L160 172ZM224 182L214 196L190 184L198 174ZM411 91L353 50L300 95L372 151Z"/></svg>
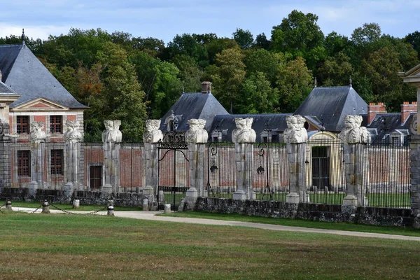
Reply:
<svg viewBox="0 0 420 280"><path fill-rule="evenodd" d="M416 279L418 241L0 214L0 278Z"/></svg>

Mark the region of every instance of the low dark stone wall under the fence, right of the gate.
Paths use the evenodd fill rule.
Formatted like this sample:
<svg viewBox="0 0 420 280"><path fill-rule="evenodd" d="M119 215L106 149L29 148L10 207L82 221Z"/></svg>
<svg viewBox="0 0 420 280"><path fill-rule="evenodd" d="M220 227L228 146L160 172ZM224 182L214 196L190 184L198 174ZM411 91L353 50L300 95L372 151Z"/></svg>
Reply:
<svg viewBox="0 0 420 280"><path fill-rule="evenodd" d="M260 200L232 200L199 197L195 211L241 214L272 218L294 218L309 221L358 223L363 225L412 226L411 209L379 207L342 207L336 204L288 203Z"/></svg>

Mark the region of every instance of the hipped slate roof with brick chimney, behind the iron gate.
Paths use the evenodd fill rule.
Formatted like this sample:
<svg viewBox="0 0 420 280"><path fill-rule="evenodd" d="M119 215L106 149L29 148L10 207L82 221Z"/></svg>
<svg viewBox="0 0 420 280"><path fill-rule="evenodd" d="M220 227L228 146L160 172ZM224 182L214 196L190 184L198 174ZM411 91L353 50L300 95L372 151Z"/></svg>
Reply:
<svg viewBox="0 0 420 280"><path fill-rule="evenodd" d="M211 123L213 123L213 119L216 115L229 114L211 93L183 93L162 118L160 130L164 133L167 132L165 119L171 115L171 111L174 111L174 115L179 118L178 129L176 130L178 132L186 132L189 128L187 121L192 118L206 120L204 130L209 131Z"/></svg>

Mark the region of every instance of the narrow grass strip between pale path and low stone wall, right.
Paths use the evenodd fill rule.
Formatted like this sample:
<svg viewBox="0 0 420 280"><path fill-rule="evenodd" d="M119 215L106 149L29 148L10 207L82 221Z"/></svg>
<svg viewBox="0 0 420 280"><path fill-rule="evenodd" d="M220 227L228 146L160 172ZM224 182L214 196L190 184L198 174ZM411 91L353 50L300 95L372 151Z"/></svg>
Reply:
<svg viewBox="0 0 420 280"><path fill-rule="evenodd" d="M327 223L320 221L296 220L287 218L266 218L258 216L244 216L239 214L218 214L207 212L175 212L172 214L159 214L160 216L175 216L186 218L207 218L223 221L241 221L248 223L265 223L270 225L288 225L302 228L322 228L326 230L347 230L353 232L374 232L387 235L407 235L420 237L420 230L415 228L382 227L377 225L358 225L353 223Z"/></svg>

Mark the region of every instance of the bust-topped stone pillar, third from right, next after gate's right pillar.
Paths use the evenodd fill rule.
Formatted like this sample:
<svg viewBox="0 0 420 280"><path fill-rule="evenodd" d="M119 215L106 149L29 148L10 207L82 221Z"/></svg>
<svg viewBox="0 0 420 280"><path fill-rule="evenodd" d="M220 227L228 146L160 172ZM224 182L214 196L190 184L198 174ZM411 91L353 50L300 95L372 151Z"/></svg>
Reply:
<svg viewBox="0 0 420 280"><path fill-rule="evenodd" d="M252 127L253 118L235 118L237 128L232 131L235 143L235 162L237 167L237 191L234 200L252 200L252 144L257 136Z"/></svg>

